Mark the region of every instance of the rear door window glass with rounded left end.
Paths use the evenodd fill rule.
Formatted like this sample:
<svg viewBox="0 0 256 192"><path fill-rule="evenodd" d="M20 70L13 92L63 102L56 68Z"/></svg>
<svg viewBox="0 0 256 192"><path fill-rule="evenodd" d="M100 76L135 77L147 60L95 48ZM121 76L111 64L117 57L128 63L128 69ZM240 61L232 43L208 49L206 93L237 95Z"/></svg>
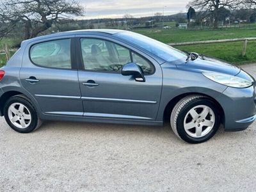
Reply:
<svg viewBox="0 0 256 192"><path fill-rule="evenodd" d="M35 44L30 49L33 63L42 67L71 68L70 39Z"/></svg>

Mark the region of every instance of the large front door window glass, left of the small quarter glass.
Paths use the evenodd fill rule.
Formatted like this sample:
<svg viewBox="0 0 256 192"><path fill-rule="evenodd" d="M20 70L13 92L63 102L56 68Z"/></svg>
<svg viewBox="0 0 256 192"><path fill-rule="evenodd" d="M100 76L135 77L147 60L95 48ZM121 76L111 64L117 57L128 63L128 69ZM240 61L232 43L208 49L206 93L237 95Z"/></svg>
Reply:
<svg viewBox="0 0 256 192"><path fill-rule="evenodd" d="M131 62L129 49L97 38L81 38L81 51L85 70L120 72Z"/></svg>

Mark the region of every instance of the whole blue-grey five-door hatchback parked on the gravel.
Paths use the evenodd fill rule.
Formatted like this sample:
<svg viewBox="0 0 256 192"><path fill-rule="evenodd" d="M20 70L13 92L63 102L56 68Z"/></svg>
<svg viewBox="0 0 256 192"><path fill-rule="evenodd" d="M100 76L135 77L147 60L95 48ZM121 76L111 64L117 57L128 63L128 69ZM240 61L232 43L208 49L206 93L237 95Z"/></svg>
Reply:
<svg viewBox="0 0 256 192"><path fill-rule="evenodd" d="M256 118L255 79L241 68L129 31L25 40L0 70L0 115L22 133L42 120L168 120L180 139L201 143L220 124L241 131Z"/></svg>

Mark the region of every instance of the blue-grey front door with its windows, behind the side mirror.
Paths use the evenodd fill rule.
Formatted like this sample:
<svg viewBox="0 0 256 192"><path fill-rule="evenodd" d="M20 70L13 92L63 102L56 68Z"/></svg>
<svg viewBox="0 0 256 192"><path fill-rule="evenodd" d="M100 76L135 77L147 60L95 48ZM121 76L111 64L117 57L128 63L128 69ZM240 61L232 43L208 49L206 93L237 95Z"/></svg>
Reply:
<svg viewBox="0 0 256 192"><path fill-rule="evenodd" d="M142 52L102 38L77 38L83 70L79 84L84 116L125 120L154 121L161 97L162 72L156 61ZM138 64L145 82L122 76L126 63Z"/></svg>

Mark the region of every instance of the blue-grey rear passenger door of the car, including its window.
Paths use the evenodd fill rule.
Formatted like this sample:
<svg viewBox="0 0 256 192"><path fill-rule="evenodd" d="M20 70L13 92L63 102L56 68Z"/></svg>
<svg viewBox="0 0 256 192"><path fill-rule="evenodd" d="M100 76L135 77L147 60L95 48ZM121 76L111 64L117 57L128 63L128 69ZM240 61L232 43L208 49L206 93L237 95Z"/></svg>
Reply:
<svg viewBox="0 0 256 192"><path fill-rule="evenodd" d="M20 81L45 115L83 116L73 50L73 36L41 40L26 47Z"/></svg>

